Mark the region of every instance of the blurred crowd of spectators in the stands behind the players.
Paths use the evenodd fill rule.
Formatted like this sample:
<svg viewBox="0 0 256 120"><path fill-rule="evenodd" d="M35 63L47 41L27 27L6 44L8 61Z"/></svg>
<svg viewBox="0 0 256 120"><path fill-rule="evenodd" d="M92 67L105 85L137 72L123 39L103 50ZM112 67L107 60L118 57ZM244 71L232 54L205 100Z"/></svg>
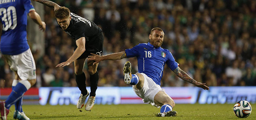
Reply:
<svg viewBox="0 0 256 120"><path fill-rule="evenodd" d="M256 86L256 0L52 0L84 18L93 18L104 32L103 55L149 42L154 27L164 30L162 48L172 52L180 68L207 86ZM58 27L54 11L45 6L45 54L33 51L37 83L76 86L74 64L55 68L74 50L74 40ZM84 13L91 13L86 16ZM136 58L103 61L98 86L128 86L126 61L137 72ZM90 86L87 65L86 84ZM11 87L13 72L0 57L0 87ZM161 86L193 86L167 66Z"/></svg>

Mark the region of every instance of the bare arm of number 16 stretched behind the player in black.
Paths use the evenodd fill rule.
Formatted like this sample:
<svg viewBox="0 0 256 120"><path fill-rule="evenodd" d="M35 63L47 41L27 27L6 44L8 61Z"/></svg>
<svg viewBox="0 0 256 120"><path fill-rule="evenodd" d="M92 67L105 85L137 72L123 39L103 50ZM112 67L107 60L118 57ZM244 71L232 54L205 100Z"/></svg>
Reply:
<svg viewBox="0 0 256 120"><path fill-rule="evenodd" d="M125 51L108 54L108 55L104 55L104 56L99 56L99 55L93 54L93 53L91 53L91 54L92 54L92 56L88 56L87 60L95 61L93 64L96 64L96 63L98 63L100 61L104 61L104 60L120 60L122 58L127 58Z"/></svg>

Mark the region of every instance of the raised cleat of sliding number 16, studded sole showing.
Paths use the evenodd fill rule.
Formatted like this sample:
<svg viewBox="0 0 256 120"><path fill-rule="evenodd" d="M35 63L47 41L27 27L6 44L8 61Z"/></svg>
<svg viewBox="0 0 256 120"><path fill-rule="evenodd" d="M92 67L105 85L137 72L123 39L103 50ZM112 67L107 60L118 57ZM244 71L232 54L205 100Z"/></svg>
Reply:
<svg viewBox="0 0 256 120"><path fill-rule="evenodd" d="M130 84L132 80L132 66L129 61L124 64L124 82Z"/></svg>

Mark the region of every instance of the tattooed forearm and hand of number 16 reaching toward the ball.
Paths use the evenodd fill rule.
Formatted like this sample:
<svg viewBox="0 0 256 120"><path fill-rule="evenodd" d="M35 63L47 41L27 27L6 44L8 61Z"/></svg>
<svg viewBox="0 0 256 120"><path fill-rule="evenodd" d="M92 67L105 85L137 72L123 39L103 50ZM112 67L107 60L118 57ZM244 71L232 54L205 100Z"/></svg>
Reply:
<svg viewBox="0 0 256 120"><path fill-rule="evenodd" d="M196 80L194 80L193 78L191 78L190 76L188 76L188 74L186 74L186 72L184 72L183 70L180 69L180 67L177 67L175 70L173 70L173 72L182 80L185 80L187 82L190 82L192 84L194 84L197 87L203 88L204 90L209 90L209 87L205 85L205 83L201 83L201 82L197 82Z"/></svg>

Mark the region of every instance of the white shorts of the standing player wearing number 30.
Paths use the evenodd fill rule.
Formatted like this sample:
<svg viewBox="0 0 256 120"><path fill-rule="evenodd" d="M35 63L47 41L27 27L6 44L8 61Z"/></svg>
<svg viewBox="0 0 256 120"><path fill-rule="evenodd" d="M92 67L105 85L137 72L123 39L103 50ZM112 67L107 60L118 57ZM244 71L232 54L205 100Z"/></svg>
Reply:
<svg viewBox="0 0 256 120"><path fill-rule="evenodd" d="M21 54L4 54L3 56L10 65L10 69L17 72L21 80L36 79L36 64L30 49Z"/></svg>

